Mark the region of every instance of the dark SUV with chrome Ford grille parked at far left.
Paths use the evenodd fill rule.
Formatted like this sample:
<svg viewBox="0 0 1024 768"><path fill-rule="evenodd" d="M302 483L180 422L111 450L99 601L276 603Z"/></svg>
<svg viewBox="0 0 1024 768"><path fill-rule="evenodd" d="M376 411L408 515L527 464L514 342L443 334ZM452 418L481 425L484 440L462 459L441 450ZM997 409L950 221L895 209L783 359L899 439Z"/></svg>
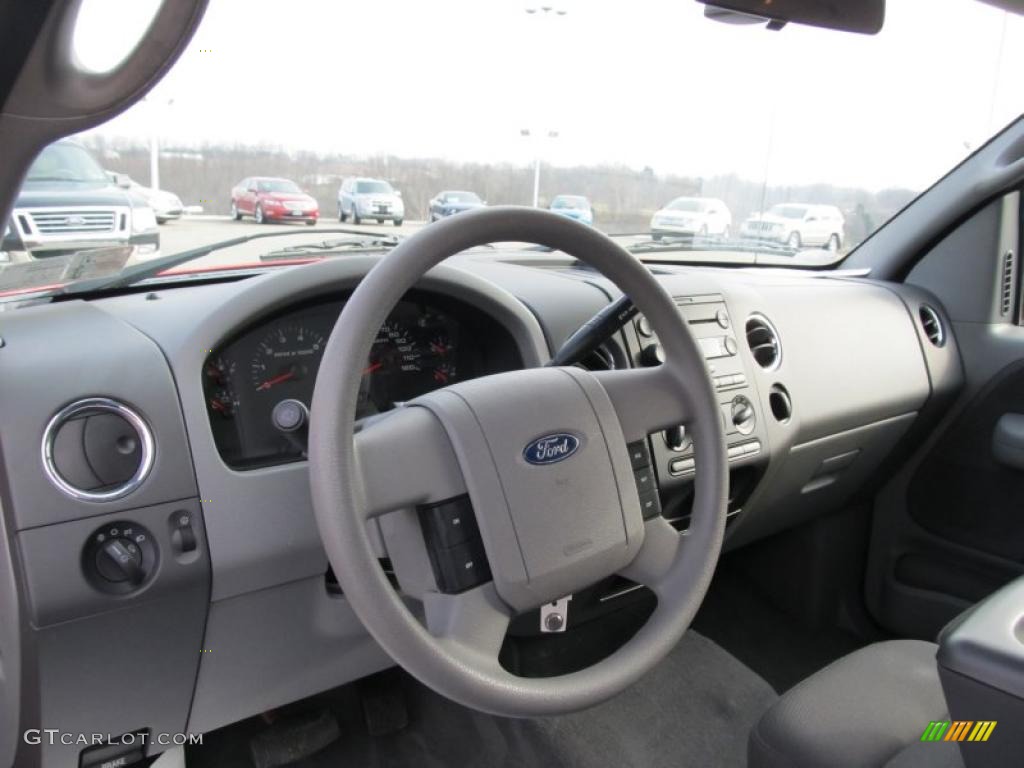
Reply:
<svg viewBox="0 0 1024 768"><path fill-rule="evenodd" d="M160 253L157 217L130 188L111 178L81 144L60 140L29 168L0 242L0 260L31 261L108 246L131 246L130 258Z"/></svg>

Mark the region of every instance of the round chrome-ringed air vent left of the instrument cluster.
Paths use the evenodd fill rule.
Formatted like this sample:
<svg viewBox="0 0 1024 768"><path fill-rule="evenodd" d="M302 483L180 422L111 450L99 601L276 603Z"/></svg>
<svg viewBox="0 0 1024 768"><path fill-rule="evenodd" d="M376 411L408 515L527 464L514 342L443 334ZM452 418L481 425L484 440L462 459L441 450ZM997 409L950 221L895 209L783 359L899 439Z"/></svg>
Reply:
<svg viewBox="0 0 1024 768"><path fill-rule="evenodd" d="M153 469L153 433L123 402L89 397L61 409L43 432L43 468L68 496L89 502L121 499Z"/></svg>

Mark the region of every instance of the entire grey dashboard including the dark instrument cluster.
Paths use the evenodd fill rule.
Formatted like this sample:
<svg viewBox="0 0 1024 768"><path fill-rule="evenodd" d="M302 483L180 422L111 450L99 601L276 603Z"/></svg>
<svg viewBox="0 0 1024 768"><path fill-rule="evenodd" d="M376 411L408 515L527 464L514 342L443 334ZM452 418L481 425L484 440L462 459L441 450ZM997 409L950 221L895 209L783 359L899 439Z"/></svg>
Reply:
<svg viewBox="0 0 1024 768"><path fill-rule="evenodd" d="M325 344L376 263L353 255L5 312L0 535L18 553L19 637L32 650L20 667L40 701L19 727L207 732L393 665L331 584L301 434L274 421L282 402L309 407ZM726 548L840 509L962 386L952 325L912 286L695 267L656 274L700 340L722 410ZM358 415L544 365L617 295L558 254L450 259L378 332ZM925 305L949 332L944 343L929 338ZM603 358L658 365L657 345L636 317ZM54 483L40 451L54 423L59 471L110 473L92 497ZM111 444L116 453L103 453ZM650 435L646 454L634 465L638 493L656 483L662 508L651 514L685 528L699 457L679 430ZM424 536L415 515L404 522L385 515L368 535L415 601L434 577L425 554L402 570L402 542ZM111 583L110 547L134 575ZM596 602L629 599L615 590ZM573 611L583 603L578 595ZM17 671L18 657L5 657ZM146 685L96 672L110 669L145 670ZM74 745L41 750L42 765L79 764Z"/></svg>

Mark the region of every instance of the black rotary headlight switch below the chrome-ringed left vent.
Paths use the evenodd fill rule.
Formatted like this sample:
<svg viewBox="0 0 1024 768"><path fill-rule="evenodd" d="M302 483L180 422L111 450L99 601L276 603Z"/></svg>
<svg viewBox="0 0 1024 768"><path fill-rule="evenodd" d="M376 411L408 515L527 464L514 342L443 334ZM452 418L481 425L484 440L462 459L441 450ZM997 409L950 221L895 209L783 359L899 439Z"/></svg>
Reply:
<svg viewBox="0 0 1024 768"><path fill-rule="evenodd" d="M127 594L155 572L157 547L152 534L132 522L112 522L96 530L85 545L82 566L86 580L100 592Z"/></svg>

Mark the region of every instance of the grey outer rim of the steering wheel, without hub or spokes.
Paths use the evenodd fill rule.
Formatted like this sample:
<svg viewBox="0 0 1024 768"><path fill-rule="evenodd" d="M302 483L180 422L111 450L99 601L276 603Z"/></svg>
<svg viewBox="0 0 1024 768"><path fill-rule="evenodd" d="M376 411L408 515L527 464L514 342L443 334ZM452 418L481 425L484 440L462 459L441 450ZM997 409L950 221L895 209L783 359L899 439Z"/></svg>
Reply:
<svg viewBox="0 0 1024 768"><path fill-rule="evenodd" d="M656 590L647 623L601 662L551 678L515 677L469 647L437 640L394 591L358 514L360 475L353 446L364 361L401 297L449 256L494 242L529 242L587 262L633 298L666 351L692 407L699 471L691 523ZM672 297L634 256L603 233L529 208L495 207L425 227L385 256L346 302L325 347L313 394L309 468L313 509L334 572L370 634L414 677L465 706L511 717L554 715L598 703L625 689L688 629L721 551L728 498L725 441L703 355Z"/></svg>

